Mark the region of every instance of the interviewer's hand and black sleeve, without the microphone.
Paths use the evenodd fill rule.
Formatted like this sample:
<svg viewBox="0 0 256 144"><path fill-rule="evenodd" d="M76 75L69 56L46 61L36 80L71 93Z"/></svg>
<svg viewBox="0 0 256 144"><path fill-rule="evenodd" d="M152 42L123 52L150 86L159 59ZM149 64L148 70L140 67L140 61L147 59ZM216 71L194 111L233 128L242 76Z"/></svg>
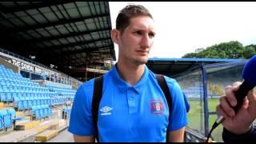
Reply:
<svg viewBox="0 0 256 144"><path fill-rule="evenodd" d="M250 90L244 99L241 108L235 113L233 108L237 104L234 91L238 90L241 82L234 82L233 86L226 86L226 96L220 98L217 114L225 119L222 138L224 142L255 142L256 126L256 94Z"/></svg>

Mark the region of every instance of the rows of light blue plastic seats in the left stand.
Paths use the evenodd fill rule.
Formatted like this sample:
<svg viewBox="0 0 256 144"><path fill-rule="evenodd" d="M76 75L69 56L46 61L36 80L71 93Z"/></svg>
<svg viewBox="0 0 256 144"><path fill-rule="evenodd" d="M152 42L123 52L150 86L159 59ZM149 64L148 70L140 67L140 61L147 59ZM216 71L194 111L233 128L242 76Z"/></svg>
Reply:
<svg viewBox="0 0 256 144"><path fill-rule="evenodd" d="M53 106L72 102L75 92L72 86L56 82L40 86L38 82L32 82L0 64L0 102L11 106L0 110L0 130L13 127L15 121L22 119L16 118L16 110L29 111L36 120L49 118L53 114ZM70 114L70 109L65 109L65 112Z"/></svg>

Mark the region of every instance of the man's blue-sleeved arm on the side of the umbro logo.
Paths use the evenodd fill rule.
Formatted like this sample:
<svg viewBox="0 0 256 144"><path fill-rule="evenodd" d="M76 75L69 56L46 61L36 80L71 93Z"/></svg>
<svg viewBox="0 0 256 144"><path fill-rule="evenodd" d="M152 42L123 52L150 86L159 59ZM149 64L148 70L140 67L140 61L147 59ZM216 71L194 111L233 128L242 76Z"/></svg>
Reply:
<svg viewBox="0 0 256 144"><path fill-rule="evenodd" d="M92 80L82 84L74 97L68 130L74 134L75 142L94 142L94 122L91 114L93 84Z"/></svg>

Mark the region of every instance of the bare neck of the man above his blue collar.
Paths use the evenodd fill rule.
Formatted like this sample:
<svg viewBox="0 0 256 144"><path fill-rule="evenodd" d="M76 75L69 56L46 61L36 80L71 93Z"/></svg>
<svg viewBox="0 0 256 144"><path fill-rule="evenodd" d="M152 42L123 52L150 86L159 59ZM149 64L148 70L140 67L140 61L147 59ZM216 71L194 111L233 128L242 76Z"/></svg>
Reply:
<svg viewBox="0 0 256 144"><path fill-rule="evenodd" d="M119 76L130 86L134 86L142 78L145 70L145 65L134 65L127 62L118 62L117 66Z"/></svg>

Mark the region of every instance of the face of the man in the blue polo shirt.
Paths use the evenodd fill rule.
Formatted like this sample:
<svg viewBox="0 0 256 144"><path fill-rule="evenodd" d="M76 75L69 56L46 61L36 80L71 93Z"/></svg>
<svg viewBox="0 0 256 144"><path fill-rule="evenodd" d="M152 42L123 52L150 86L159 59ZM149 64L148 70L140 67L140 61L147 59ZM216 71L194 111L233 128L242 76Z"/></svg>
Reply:
<svg viewBox="0 0 256 144"><path fill-rule="evenodd" d="M145 64L154 43L154 35L152 18L146 16L131 18L130 25L120 35L118 57L123 61Z"/></svg>

